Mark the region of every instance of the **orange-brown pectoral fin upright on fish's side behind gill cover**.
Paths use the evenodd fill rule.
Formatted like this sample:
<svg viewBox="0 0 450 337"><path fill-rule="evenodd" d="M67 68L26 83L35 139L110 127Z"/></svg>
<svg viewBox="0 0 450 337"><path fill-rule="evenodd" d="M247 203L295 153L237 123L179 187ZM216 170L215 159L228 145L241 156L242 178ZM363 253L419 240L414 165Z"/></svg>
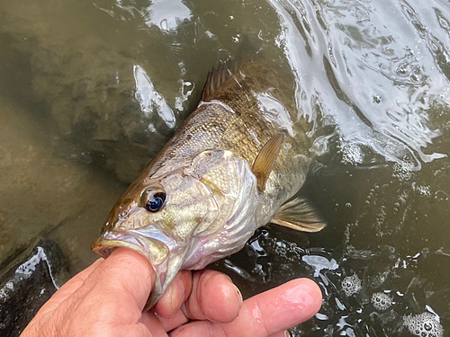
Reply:
<svg viewBox="0 0 450 337"><path fill-rule="evenodd" d="M279 133L271 138L265 146L261 149L255 163L253 163L252 172L257 177L257 187L261 191L266 190L266 182L269 174L274 167L275 160L280 153L281 146L284 142L284 132Z"/></svg>

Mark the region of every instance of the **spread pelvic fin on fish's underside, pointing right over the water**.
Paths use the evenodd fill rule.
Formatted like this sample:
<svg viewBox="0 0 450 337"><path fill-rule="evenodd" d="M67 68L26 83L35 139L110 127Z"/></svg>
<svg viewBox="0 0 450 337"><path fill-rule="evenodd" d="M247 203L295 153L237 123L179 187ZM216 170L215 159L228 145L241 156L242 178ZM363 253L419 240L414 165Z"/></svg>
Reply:
<svg viewBox="0 0 450 337"><path fill-rule="evenodd" d="M311 204L302 198L296 198L282 205L271 222L310 233L319 232L327 226Z"/></svg>

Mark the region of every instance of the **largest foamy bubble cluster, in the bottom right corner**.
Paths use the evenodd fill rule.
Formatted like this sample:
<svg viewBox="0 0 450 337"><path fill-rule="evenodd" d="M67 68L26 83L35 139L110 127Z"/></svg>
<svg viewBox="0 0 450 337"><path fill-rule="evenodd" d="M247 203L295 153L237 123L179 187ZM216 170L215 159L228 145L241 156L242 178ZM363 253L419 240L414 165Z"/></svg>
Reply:
<svg viewBox="0 0 450 337"><path fill-rule="evenodd" d="M420 337L442 337L444 329L437 315L425 312L419 315L404 315L403 324L410 333Z"/></svg>

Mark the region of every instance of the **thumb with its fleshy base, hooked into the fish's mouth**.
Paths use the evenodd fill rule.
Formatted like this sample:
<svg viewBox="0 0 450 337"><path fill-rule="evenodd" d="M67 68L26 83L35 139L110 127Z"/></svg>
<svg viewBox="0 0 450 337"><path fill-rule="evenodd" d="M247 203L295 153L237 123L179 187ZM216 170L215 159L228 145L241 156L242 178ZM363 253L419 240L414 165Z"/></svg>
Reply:
<svg viewBox="0 0 450 337"><path fill-rule="evenodd" d="M34 336L48 329L58 331L62 325L64 329L78 331L94 326L89 321L98 324L101 317L103 323L114 322L117 326L136 323L154 279L155 271L144 256L118 248L108 259L99 259L61 287L40 308L23 336ZM67 314L71 315L70 319Z"/></svg>

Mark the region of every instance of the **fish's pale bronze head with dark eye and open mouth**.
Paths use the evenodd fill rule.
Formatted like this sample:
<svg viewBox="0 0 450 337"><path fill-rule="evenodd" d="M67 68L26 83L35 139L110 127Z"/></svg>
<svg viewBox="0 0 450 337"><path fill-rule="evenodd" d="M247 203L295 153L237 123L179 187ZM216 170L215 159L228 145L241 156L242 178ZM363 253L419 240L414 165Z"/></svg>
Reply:
<svg viewBox="0 0 450 337"><path fill-rule="evenodd" d="M139 176L112 208L92 249L104 258L117 247L142 253L157 274L151 307L178 270L201 269L240 249L256 229L256 203L257 182L247 161L229 151L202 151L173 172Z"/></svg>

